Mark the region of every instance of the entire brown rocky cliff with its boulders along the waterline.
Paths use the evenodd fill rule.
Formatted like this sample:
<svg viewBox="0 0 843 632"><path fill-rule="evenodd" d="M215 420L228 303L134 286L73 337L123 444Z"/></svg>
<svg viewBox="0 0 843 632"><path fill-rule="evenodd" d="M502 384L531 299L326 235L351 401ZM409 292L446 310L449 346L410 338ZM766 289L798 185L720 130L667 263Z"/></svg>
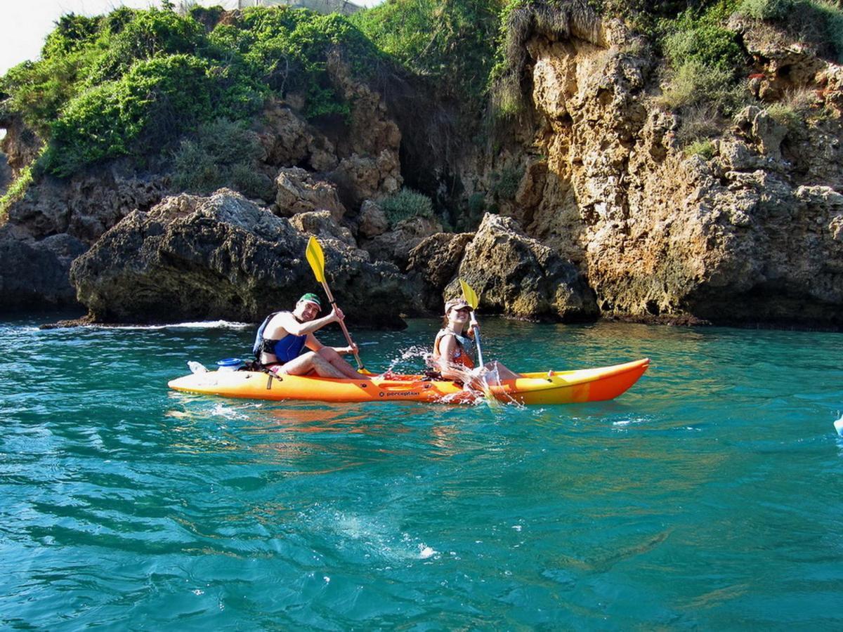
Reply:
<svg viewBox="0 0 843 632"><path fill-rule="evenodd" d="M306 121L290 94L255 124L270 200L222 192L154 206L174 192L165 170L41 179L0 231L5 304L72 300L62 279L91 247L70 278L94 319L259 319L309 284L301 253L313 233L329 244L343 305L382 324L437 312L462 276L481 308L515 318L843 327L843 67L733 17L752 104L690 152L693 113L664 104L663 61L584 7L518 14L510 79L524 110L494 142L466 131L459 152L411 174L439 183L432 196L453 206L439 218L393 225L380 209L407 175L402 161L423 169L429 147L400 129L388 93L336 59L345 120ZM776 115L797 93L808 114ZM38 142L15 125L4 149L18 173ZM443 232L441 216L459 212L472 232Z"/></svg>

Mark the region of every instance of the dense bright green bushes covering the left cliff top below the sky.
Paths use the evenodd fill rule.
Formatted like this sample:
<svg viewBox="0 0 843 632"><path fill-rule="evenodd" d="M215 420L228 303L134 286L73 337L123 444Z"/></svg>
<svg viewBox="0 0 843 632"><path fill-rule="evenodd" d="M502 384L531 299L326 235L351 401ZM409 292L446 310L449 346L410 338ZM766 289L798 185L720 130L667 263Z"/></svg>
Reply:
<svg viewBox="0 0 843 632"><path fill-rule="evenodd" d="M105 158L161 153L203 123L250 120L271 95L301 95L310 118L348 115L326 71L330 58L365 78L380 56L340 15L249 8L229 16L223 24L208 10L118 8L62 17L39 61L0 78L6 115L22 116L46 141L37 169L67 176Z"/></svg>

